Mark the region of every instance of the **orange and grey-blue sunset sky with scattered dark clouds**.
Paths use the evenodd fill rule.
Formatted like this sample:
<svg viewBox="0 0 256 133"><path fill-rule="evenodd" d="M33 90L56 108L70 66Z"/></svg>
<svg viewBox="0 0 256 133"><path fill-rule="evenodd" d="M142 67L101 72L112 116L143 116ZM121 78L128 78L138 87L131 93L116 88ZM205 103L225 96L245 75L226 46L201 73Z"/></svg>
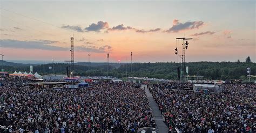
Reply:
<svg viewBox="0 0 256 133"><path fill-rule="evenodd" d="M255 1L0 1L5 60L180 62L255 59Z"/></svg>

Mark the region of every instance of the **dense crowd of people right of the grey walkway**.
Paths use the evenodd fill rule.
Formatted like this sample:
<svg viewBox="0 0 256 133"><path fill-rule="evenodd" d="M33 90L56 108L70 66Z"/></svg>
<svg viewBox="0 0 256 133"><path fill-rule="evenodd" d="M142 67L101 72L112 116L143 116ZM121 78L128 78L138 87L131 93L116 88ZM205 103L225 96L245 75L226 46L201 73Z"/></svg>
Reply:
<svg viewBox="0 0 256 133"><path fill-rule="evenodd" d="M209 94L172 90L172 87L154 84L150 88L170 129L202 133L256 132L256 85L229 84L223 93Z"/></svg>

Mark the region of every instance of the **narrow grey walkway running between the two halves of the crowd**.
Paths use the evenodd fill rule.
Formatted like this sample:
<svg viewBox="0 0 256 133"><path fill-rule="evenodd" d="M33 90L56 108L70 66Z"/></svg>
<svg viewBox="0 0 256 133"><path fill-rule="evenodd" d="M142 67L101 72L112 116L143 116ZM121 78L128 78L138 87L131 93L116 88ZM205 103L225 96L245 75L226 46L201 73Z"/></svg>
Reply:
<svg viewBox="0 0 256 133"><path fill-rule="evenodd" d="M156 120L157 129L159 130L159 132L163 132L163 133L168 132L168 127L164 123L164 119L161 116L161 112L158 108L158 105L154 101L152 94L149 92L149 88L146 88L145 92L147 95L147 99L149 99L149 103L150 103L150 107L152 109L154 119Z"/></svg>

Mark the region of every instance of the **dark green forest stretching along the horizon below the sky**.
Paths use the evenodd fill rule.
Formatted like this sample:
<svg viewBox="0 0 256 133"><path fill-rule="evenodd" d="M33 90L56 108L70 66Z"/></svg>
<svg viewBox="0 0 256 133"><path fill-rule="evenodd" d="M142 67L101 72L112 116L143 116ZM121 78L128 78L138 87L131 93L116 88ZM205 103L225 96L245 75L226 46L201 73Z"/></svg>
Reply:
<svg viewBox="0 0 256 133"><path fill-rule="evenodd" d="M132 76L152 77L164 79L178 79L177 68L181 63L132 63ZM33 72L40 75L53 73L49 69L52 64L33 65ZM69 64L55 63L55 73L65 74ZM247 68L251 67L251 75L256 75L256 63L250 62L188 62L185 64L190 76L204 76L207 80L226 80L226 79L247 79ZM76 63L75 75L87 76L88 63ZM29 65L5 65L4 70L10 73L14 71L29 72ZM131 64L109 63L109 76L118 78L130 76ZM93 63L90 65L91 76L107 76L107 63ZM187 75L187 73L186 73Z"/></svg>

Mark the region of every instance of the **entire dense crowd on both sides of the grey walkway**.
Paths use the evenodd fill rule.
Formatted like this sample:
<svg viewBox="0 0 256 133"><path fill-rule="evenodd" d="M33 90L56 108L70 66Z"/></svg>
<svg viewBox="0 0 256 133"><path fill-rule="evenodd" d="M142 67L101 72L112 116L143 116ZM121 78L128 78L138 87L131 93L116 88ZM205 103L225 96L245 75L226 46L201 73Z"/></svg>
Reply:
<svg viewBox="0 0 256 133"><path fill-rule="evenodd" d="M156 128L144 89L97 82L79 89L31 87L6 78L0 87L0 132L136 132ZM186 88L192 88L186 83ZM180 90L179 82L149 88L166 124L182 132L255 132L256 85L226 84L222 93Z"/></svg>

